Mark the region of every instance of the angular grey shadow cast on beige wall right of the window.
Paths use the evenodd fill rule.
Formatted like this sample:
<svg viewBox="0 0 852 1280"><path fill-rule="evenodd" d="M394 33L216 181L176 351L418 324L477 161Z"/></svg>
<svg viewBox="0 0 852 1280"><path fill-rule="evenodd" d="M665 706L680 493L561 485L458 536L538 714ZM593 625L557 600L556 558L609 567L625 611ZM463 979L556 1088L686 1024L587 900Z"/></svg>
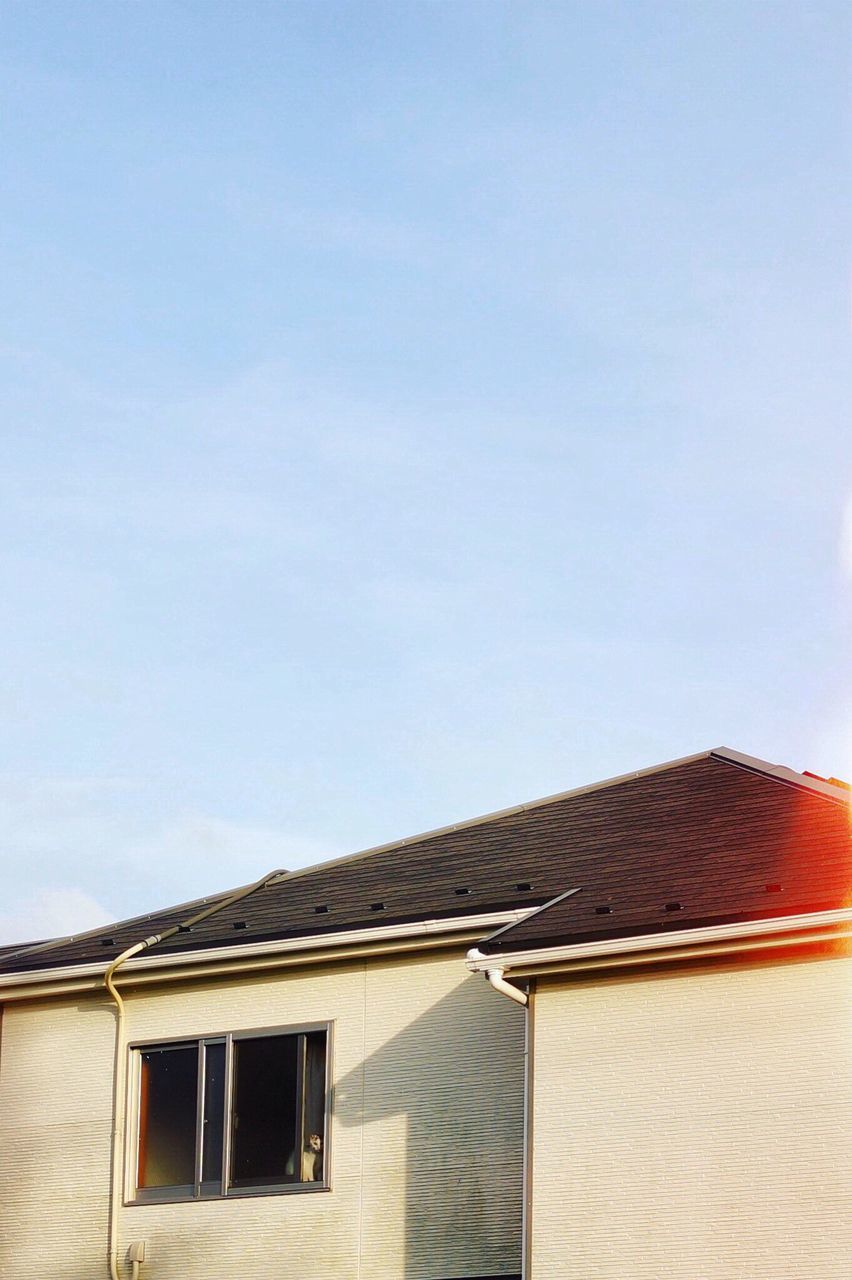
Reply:
<svg viewBox="0 0 852 1280"><path fill-rule="evenodd" d="M363 1125L366 1280L379 1275L367 1257L368 1240L381 1231L383 1206L385 1212L397 1208L399 1185L404 1185L400 1277L519 1276L519 1006L500 1000L481 978L466 978L338 1082L335 1115L344 1125ZM383 1146L381 1123L393 1117L404 1119L404 1138L400 1126L391 1125L397 1140Z"/></svg>

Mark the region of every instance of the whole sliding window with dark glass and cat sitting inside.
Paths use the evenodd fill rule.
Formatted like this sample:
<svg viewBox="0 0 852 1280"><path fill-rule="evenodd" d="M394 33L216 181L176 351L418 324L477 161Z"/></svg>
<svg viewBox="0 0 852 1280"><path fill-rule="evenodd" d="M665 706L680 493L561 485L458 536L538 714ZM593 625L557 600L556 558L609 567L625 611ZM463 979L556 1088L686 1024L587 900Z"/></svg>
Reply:
<svg viewBox="0 0 852 1280"><path fill-rule="evenodd" d="M137 1201L327 1187L327 1027L133 1048Z"/></svg>

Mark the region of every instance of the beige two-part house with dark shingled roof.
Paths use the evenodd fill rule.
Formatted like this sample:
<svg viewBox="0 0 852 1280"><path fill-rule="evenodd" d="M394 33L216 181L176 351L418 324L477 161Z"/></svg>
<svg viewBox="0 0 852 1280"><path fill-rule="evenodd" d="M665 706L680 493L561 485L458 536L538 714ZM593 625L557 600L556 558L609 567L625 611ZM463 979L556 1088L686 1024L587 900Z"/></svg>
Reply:
<svg viewBox="0 0 852 1280"><path fill-rule="evenodd" d="M848 788L728 749L0 950L0 1276L846 1280Z"/></svg>

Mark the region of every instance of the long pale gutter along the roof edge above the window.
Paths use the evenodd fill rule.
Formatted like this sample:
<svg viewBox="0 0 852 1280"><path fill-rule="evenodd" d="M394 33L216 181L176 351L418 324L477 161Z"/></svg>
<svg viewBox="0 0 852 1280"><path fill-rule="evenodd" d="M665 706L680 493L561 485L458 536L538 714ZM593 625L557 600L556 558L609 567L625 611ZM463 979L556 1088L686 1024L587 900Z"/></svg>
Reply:
<svg viewBox="0 0 852 1280"><path fill-rule="evenodd" d="M269 957L274 963L276 956L293 955L298 957L304 952L331 952L340 947L384 946L393 943L411 942L417 945L418 940L436 938L462 933L481 933L485 929L496 928L501 924L517 924L526 919L533 908L518 908L508 911L486 911L477 915L455 915L452 918L414 920L408 924L385 924L367 929L344 929L335 933L308 934L301 938L278 938L267 942L241 942L230 947L198 947L192 951L173 951L170 954L151 952L145 956L128 959L122 965L122 973L130 973L139 977L148 974L156 977L157 970L192 969L205 966L205 970L221 966L226 969L229 963L241 966L244 961ZM64 989L74 991L86 987L100 986L110 961L95 961L88 964L61 965L51 969L27 969L22 973L0 974L0 998L10 998L17 988L43 987L49 988L67 984ZM164 974L164 980L166 977ZM178 975L179 977L179 975ZM150 979L148 979L150 980ZM49 993L49 991L46 991ZM27 991L22 991L26 996ZM41 995L41 991L40 991Z"/></svg>

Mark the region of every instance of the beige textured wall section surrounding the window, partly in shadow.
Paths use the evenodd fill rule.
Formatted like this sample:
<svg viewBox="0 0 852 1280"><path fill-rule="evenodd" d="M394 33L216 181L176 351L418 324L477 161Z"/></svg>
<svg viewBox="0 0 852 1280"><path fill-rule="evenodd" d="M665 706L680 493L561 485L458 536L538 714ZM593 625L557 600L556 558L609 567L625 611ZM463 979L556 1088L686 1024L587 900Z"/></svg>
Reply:
<svg viewBox="0 0 852 1280"><path fill-rule="evenodd" d="M519 1271L523 1012L462 951L139 988L127 1010L129 1041L334 1023L331 1190L125 1206L119 1257L146 1240L146 1280ZM3 1280L106 1275L113 1036L100 998L5 1009Z"/></svg>

